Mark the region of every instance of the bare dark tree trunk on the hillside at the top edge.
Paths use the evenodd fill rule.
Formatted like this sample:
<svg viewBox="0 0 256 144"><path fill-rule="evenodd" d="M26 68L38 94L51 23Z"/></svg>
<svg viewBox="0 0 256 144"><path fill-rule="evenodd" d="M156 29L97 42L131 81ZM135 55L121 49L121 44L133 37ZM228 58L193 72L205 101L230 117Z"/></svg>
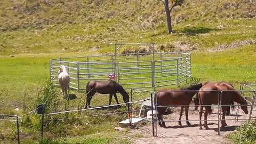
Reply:
<svg viewBox="0 0 256 144"><path fill-rule="evenodd" d="M184 2L184 0L158 0L158 1L161 1L164 4L167 26L168 26L168 34L172 34L173 31L172 31L171 11L172 11L173 7L181 6L181 4ZM172 4L170 9L169 9L169 2Z"/></svg>

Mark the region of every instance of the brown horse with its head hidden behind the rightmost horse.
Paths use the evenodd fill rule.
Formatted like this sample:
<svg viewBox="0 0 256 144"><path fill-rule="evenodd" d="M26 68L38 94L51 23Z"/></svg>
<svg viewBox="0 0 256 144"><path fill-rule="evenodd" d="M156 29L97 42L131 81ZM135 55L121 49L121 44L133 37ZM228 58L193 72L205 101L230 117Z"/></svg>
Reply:
<svg viewBox="0 0 256 144"><path fill-rule="evenodd" d="M180 118L179 118L179 125L181 125L180 119L182 116L183 108L185 106L186 110L186 120L187 124L190 125L188 122L188 108L189 104L192 100L192 97L197 93L194 91L198 91L202 87L202 84L192 85L189 87L182 87L178 90L170 90L170 89L162 89L157 91L157 104L162 106L180 106L182 105L180 109ZM176 92L175 92L176 91ZM193 92L187 92L187 91L193 91ZM165 127L165 123L163 120L162 115L164 114L167 107L158 107L157 108L157 118L159 126Z"/></svg>

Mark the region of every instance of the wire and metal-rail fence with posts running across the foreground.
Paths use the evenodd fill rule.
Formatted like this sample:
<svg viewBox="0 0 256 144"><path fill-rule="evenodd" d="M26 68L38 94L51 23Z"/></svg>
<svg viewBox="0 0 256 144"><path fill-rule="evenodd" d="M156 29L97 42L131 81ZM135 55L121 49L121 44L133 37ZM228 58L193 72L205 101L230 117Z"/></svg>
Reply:
<svg viewBox="0 0 256 144"><path fill-rule="evenodd" d="M246 85L243 84L244 87L247 87L250 85ZM255 85L256 86L256 85ZM242 87L242 85L241 85ZM148 98L146 99L139 99L139 97L135 97L136 94L143 92L143 94L145 95L149 95ZM170 91L170 92L181 92L181 91ZM184 91L182 91L184 92ZM199 92L199 91L186 91L186 92ZM202 91L201 91L202 92ZM209 92L209 91L203 91L203 92ZM230 91L222 91L222 92L230 92ZM218 134L220 134L220 124L221 121L223 121L223 119L221 119L221 107L222 106L230 106L230 105L224 105L221 103L221 98L222 98L222 92L219 93L220 97L219 98L219 103L214 104L214 105L201 105L201 106L211 106L211 107L218 107L218 118L209 118L207 120L200 120L200 119L189 119L189 121L191 122L208 122L208 121L213 121L213 122L218 122ZM246 94L246 96L243 95L244 98L250 98L250 99L246 99L246 101L248 102L248 104L246 105L248 107L248 111L249 114L246 115L246 117L243 118L238 118L238 116L240 116L238 114L239 113L243 113L241 112L241 106L245 106L245 105L238 105L235 104L235 106L237 106L237 113L234 119L225 119L226 121L244 121L244 120L248 120L248 119L255 119L256 117L256 113L254 112L255 109L253 109L253 107L255 107L255 103L254 103L254 99L255 99L255 90L251 89L250 90L246 90L245 88L241 88L241 90L237 91L241 94ZM78 110L68 110L68 111L60 111L57 113L43 113L42 114L42 128L41 128L41 137L43 138L43 127L45 126L45 119L44 116L53 116L53 115L60 115L60 114L67 114L67 113L74 113L74 112L78 112L78 111L86 111L86 110L99 110L99 109L106 109L106 108L111 108L111 107L115 107L115 106L121 106L121 105L127 105L130 104L130 107L128 107L127 110L122 110L122 111L113 111L111 113L102 113L102 114L94 114L94 115L86 115L86 116L77 116L77 117L63 117L63 118L51 118L51 119L47 119L46 121L66 121L66 120L70 120L70 119L77 119L77 118L86 118L86 117L95 117L95 116L109 116L109 115L119 115L119 114L128 114L128 118L130 119L130 123L132 123L131 119L132 118L140 118L143 119L144 121L147 122L151 122L152 123L152 133L154 135L154 137L157 137L157 122L163 122L159 119L157 119L156 114L157 114L157 109L161 108L161 107L186 107L186 106L196 106L196 105L159 105L157 103L157 93L154 91L148 91L148 90L141 90L141 89L131 89L131 102L127 102L127 103L120 103L118 105L110 105L110 106L101 106L101 107L93 107L93 108L86 108L86 109L78 109ZM138 106L139 105L139 106ZM145 107L146 106L146 107ZM26 114L23 114L22 116L18 116L18 115L6 115L6 114L1 114L0 115L0 121L14 121L17 122L17 134L18 134L18 143L20 143L20 138L19 138L19 120L22 119L23 117L33 114L35 111L38 111L38 109L42 108L42 106L37 107L36 109L33 109L31 111L29 111ZM151 111L151 115L150 117L148 116L141 116L141 111ZM40 120L39 120L40 121ZM185 122L187 120L183 120L183 119L165 119L165 122ZM31 127L32 125L30 125ZM22 130L25 129L29 129L29 126L23 128Z"/></svg>

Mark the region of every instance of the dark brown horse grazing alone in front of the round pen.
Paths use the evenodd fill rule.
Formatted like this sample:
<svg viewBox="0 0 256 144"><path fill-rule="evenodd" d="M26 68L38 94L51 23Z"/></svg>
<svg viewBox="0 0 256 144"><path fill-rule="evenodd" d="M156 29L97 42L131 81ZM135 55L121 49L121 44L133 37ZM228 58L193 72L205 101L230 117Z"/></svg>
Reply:
<svg viewBox="0 0 256 144"><path fill-rule="evenodd" d="M114 97L116 99L117 104L119 104L116 93L117 91L121 93L123 96L124 102L129 102L129 94L124 90L123 86L118 84L115 81L109 80L109 81L92 81L88 82L86 85L86 93L87 93L87 98L86 98L86 106L91 108L91 99L93 95L98 92L101 94L107 94L109 93L109 105L111 104L112 96L114 94ZM129 105L129 104L126 104Z"/></svg>

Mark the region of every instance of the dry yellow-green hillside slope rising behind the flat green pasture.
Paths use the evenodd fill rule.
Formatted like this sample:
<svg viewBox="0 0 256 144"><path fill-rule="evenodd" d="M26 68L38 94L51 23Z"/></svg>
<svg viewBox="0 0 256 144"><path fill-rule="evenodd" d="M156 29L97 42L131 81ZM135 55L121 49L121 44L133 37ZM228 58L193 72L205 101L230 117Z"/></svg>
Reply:
<svg viewBox="0 0 256 144"><path fill-rule="evenodd" d="M109 43L154 42L161 51L214 50L255 43L255 1L185 1L167 35L159 1L0 2L0 54L113 52ZM239 46L239 45L238 45ZM234 46L233 46L234 47ZM92 49L93 48L93 49Z"/></svg>

